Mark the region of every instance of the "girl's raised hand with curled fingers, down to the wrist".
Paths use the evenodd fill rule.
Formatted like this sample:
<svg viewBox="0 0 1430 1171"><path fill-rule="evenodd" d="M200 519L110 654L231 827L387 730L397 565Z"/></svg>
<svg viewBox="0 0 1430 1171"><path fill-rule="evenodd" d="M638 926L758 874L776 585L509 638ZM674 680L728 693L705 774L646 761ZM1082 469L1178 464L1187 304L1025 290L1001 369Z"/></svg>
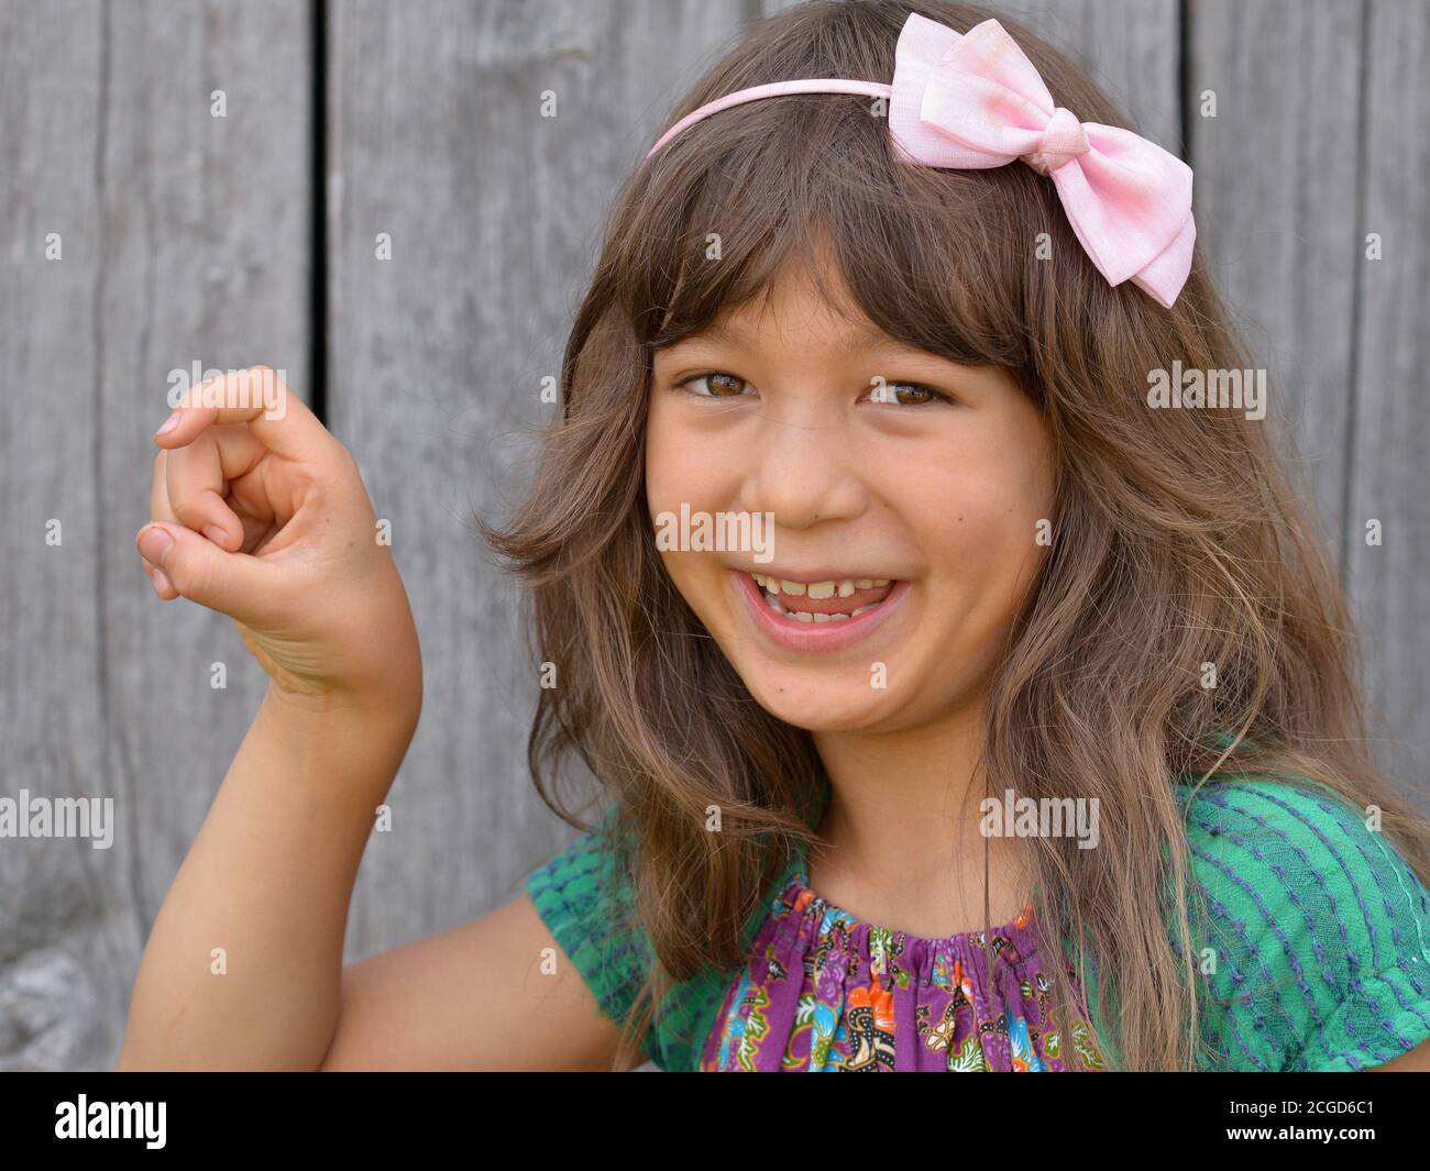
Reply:
<svg viewBox="0 0 1430 1171"><path fill-rule="evenodd" d="M193 387L154 442L136 545L162 599L233 618L286 695L420 702L416 626L358 463L273 370Z"/></svg>

